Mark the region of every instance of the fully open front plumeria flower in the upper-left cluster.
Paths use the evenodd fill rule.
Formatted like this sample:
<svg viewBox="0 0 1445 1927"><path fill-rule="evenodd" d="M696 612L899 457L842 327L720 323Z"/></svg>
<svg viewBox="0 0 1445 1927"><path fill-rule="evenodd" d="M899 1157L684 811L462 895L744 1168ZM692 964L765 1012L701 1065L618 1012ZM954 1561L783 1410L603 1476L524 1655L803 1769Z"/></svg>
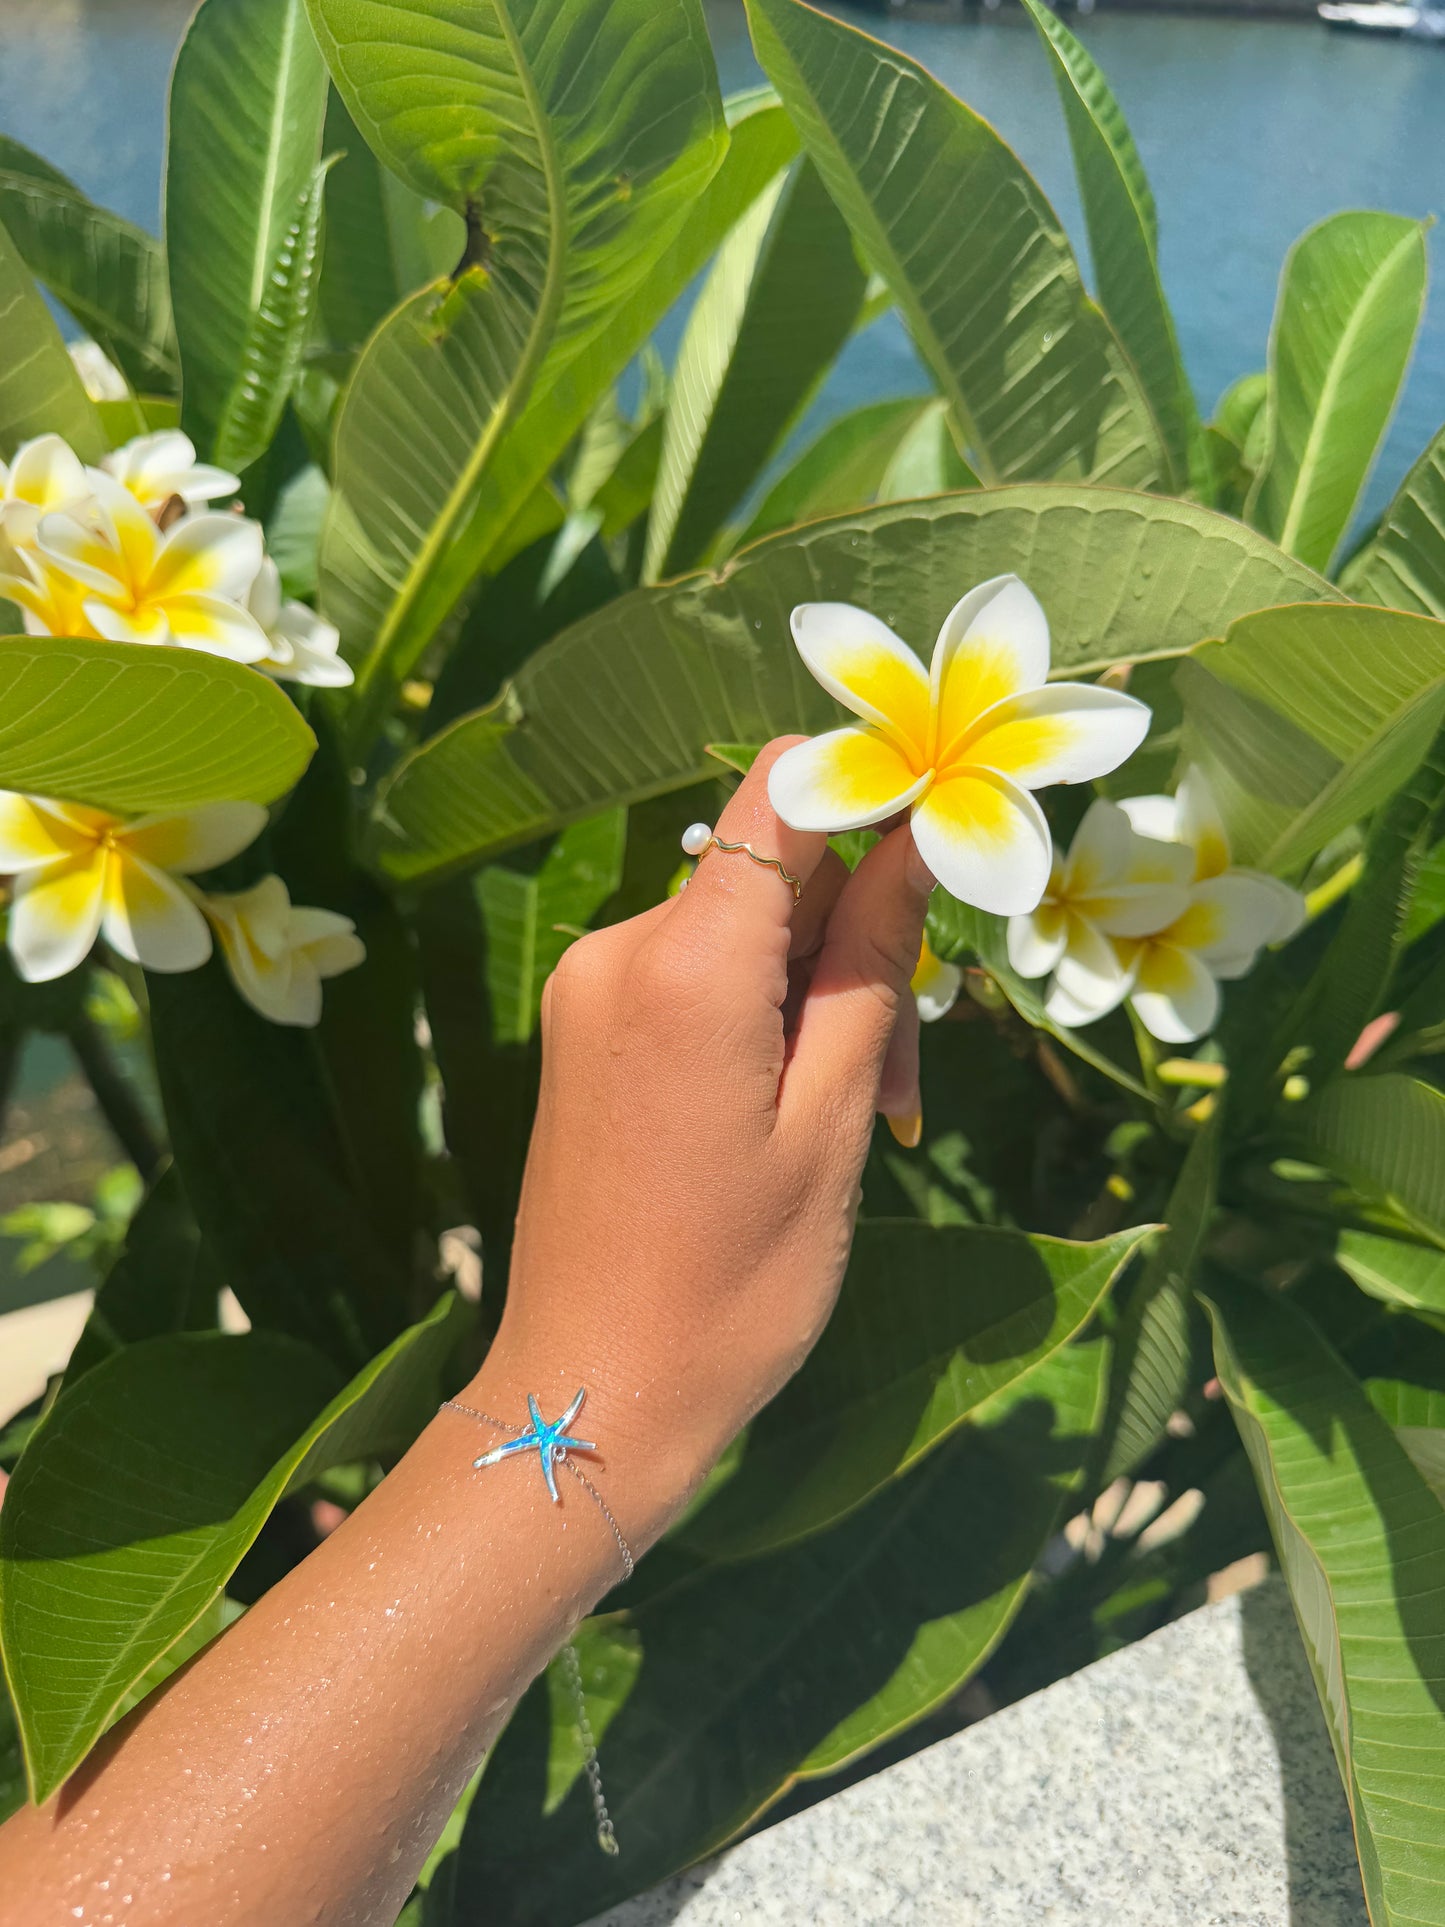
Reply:
<svg viewBox="0 0 1445 1927"><path fill-rule="evenodd" d="M50 570L83 592L85 628L69 634L258 663L270 644L243 603L262 563L260 528L239 515L191 515L162 534L112 476L92 468L91 486L85 509L46 515L35 534Z"/></svg>

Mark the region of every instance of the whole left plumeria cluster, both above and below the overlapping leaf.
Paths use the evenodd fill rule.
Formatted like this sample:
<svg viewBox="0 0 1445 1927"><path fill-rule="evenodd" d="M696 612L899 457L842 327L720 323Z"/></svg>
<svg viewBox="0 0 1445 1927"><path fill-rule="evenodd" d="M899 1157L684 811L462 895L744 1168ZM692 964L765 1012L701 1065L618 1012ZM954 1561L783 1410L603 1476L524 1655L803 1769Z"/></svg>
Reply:
<svg viewBox="0 0 1445 1927"><path fill-rule="evenodd" d="M333 624L281 594L256 522L210 503L239 482L179 430L137 436L89 468L60 436L0 462L0 599L31 636L202 649L285 682L341 688ZM75 969L98 937L150 971L198 969L220 944L272 1023L314 1025L322 979L362 962L349 917L297 906L279 877L208 894L193 877L260 834L258 804L119 817L0 790L8 944L29 983Z"/></svg>

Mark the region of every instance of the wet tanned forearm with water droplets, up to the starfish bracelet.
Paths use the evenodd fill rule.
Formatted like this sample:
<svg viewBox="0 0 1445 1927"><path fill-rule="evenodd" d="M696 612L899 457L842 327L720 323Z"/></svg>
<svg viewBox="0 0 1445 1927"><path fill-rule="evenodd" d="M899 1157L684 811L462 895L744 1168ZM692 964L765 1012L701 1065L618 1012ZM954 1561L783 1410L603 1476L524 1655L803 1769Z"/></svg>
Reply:
<svg viewBox="0 0 1445 1927"><path fill-rule="evenodd" d="M555 1416L570 1370L499 1347L460 1397L522 1426L526 1391ZM591 1387L584 1436L603 1447L590 1476L642 1551L690 1474L634 1445L628 1403ZM622 1574L613 1528L565 1468L557 1505L536 1455L472 1470L501 1436L439 1412L56 1800L0 1829L4 1927L77 1906L92 1927L302 1914L389 1927L516 1698Z"/></svg>

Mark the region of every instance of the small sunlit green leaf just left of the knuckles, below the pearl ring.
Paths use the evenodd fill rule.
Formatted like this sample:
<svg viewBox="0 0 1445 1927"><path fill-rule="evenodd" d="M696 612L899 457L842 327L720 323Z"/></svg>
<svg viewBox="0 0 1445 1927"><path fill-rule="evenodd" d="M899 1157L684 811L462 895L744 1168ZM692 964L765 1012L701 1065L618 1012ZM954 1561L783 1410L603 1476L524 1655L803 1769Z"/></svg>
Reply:
<svg viewBox="0 0 1445 1927"><path fill-rule="evenodd" d="M547 977L622 881L624 844L626 811L607 809L563 831L536 871L491 863L476 879L495 1043L536 1033Z"/></svg>

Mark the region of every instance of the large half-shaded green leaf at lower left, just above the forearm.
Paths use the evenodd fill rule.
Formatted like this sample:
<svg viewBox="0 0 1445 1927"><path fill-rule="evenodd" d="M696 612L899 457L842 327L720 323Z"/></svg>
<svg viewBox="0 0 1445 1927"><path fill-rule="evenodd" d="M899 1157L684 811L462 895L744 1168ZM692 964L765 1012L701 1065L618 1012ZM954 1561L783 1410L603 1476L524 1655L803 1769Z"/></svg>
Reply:
<svg viewBox="0 0 1445 1927"><path fill-rule="evenodd" d="M0 1644L35 1800L216 1599L287 1490L410 1443L464 1316L439 1301L345 1386L277 1332L187 1332L62 1391L0 1511Z"/></svg>

